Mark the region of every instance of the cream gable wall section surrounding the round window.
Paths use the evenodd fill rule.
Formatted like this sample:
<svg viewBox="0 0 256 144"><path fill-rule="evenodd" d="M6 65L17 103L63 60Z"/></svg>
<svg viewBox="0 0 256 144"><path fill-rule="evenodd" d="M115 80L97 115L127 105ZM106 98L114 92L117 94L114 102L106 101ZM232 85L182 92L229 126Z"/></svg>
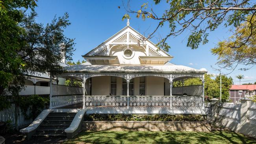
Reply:
<svg viewBox="0 0 256 144"><path fill-rule="evenodd" d="M126 47L124 47L126 48ZM146 51L141 46L136 46L134 48L134 56L131 59L126 59L123 57L123 46L115 46L111 49L110 55L117 56L120 64L141 64L139 61L139 56L146 56Z"/></svg>

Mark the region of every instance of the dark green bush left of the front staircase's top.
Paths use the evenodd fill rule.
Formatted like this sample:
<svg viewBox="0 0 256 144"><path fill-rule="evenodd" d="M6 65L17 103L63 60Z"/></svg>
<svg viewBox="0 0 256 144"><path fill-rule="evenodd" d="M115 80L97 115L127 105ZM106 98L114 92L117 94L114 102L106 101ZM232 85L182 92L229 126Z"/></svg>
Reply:
<svg viewBox="0 0 256 144"><path fill-rule="evenodd" d="M50 103L48 97L43 98L38 95L19 96L17 100L19 100L20 109L27 119L35 119Z"/></svg>

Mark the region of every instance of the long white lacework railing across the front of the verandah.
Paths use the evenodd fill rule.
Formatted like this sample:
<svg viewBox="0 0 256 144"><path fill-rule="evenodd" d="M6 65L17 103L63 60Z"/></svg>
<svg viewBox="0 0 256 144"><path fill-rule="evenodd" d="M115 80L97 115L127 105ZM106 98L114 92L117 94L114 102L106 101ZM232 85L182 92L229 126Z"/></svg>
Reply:
<svg viewBox="0 0 256 144"><path fill-rule="evenodd" d="M202 96L86 96L85 108L197 110L204 106Z"/></svg>

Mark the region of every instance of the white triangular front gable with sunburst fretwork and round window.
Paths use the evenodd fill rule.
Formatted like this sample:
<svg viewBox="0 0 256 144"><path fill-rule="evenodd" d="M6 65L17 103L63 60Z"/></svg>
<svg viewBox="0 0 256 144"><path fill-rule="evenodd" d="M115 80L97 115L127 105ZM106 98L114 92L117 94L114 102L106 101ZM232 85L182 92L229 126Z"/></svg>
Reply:
<svg viewBox="0 0 256 144"><path fill-rule="evenodd" d="M130 26L83 55L92 65L163 65L173 57Z"/></svg>

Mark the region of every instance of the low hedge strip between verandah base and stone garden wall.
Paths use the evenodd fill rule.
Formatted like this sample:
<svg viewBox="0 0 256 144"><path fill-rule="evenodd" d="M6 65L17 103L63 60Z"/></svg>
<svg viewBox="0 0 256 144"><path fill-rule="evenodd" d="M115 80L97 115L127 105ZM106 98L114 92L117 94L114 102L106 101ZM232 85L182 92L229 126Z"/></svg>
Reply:
<svg viewBox="0 0 256 144"><path fill-rule="evenodd" d="M87 121L188 121L188 122L201 122L204 121L202 115L190 114L190 115L169 115L169 114L89 114L85 116Z"/></svg>

